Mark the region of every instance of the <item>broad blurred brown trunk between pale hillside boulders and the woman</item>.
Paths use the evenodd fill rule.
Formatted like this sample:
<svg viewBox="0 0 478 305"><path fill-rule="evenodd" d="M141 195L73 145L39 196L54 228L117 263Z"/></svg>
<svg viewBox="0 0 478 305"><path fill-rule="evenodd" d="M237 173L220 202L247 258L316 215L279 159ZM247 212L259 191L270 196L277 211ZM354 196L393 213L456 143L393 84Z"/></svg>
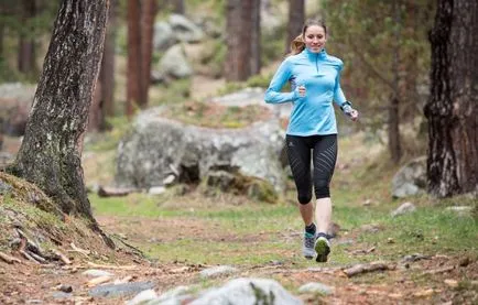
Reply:
<svg viewBox="0 0 478 305"><path fill-rule="evenodd" d="M251 76L252 3L253 0L228 0L227 14L227 55L225 75L228 81L240 81Z"/></svg>

